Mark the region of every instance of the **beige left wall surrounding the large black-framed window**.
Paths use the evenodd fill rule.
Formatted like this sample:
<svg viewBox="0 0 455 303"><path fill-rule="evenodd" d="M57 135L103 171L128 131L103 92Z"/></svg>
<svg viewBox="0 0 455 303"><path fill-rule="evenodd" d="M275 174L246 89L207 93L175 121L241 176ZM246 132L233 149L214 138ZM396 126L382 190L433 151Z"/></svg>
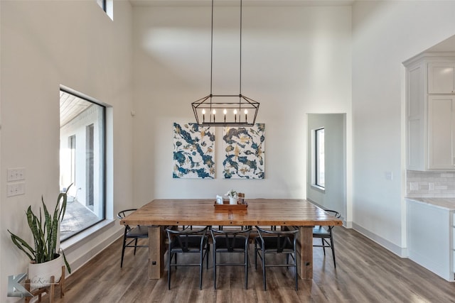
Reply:
<svg viewBox="0 0 455 303"><path fill-rule="evenodd" d="M28 259L6 229L26 237L25 211L41 194L56 201L59 186L59 86L112 106L109 109L109 218L132 206L132 9L114 2L114 21L96 1L0 1L1 202L0 301L8 275L26 271ZM113 150L113 152L112 152ZM6 170L26 168L26 194L6 197ZM69 251L75 270L121 234L118 221Z"/></svg>

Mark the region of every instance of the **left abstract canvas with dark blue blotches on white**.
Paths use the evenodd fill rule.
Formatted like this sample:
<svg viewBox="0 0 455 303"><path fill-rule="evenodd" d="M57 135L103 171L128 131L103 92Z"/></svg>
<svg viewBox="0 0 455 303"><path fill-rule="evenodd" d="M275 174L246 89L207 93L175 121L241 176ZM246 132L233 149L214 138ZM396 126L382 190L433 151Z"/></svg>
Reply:
<svg viewBox="0 0 455 303"><path fill-rule="evenodd" d="M215 132L196 123L173 123L173 178L215 178Z"/></svg>

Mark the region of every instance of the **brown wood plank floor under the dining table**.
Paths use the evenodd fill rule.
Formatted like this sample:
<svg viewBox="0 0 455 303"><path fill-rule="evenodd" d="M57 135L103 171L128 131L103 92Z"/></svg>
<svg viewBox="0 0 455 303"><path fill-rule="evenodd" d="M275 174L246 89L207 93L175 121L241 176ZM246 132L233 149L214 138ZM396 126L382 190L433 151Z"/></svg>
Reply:
<svg viewBox="0 0 455 303"><path fill-rule="evenodd" d="M264 292L253 249L248 290L242 267L219 268L218 290L213 290L211 256L209 269L203 272L203 290L198 287L198 268L173 270L168 290L166 270L161 280L147 278L146 248L139 248L135 256L127 249L120 268L119 239L70 275L65 297L60 299L57 290L55 302L455 302L455 283L397 257L352 229L336 227L334 233L336 270L331 253L327 251L324 258L322 248L314 248L314 280L299 280L297 292L294 272L285 268L267 269Z"/></svg>

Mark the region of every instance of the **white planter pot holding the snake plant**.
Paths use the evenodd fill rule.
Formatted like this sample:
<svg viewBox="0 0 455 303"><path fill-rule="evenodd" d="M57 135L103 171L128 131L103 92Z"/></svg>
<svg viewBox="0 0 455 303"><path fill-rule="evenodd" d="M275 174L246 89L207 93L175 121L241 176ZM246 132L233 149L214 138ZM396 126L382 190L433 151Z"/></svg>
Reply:
<svg viewBox="0 0 455 303"><path fill-rule="evenodd" d="M28 264L28 279L31 289L46 287L50 285L50 277L54 276L54 282L60 281L62 277L63 257L62 254L54 260L45 263Z"/></svg>

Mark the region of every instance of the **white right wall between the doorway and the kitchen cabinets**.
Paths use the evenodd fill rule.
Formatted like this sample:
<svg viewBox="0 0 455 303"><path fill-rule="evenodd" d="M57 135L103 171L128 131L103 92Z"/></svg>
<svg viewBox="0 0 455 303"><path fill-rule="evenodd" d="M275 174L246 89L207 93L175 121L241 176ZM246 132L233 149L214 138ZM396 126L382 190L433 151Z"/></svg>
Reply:
<svg viewBox="0 0 455 303"><path fill-rule="evenodd" d="M454 11L455 1L353 6L354 228L399 255L406 255L402 62L454 35Z"/></svg>

